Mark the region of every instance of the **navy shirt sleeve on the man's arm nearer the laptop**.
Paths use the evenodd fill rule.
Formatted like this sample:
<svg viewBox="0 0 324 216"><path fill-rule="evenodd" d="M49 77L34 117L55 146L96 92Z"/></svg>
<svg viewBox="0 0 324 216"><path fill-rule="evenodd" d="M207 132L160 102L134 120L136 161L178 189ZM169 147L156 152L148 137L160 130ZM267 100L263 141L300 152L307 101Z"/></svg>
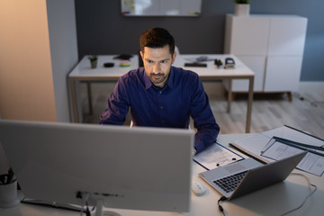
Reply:
<svg viewBox="0 0 324 216"><path fill-rule="evenodd" d="M197 129L194 136L194 148L199 153L216 141L220 126L216 123L211 112L209 99L199 76L195 76L194 81L191 83L193 84L191 87L191 116L194 128Z"/></svg>

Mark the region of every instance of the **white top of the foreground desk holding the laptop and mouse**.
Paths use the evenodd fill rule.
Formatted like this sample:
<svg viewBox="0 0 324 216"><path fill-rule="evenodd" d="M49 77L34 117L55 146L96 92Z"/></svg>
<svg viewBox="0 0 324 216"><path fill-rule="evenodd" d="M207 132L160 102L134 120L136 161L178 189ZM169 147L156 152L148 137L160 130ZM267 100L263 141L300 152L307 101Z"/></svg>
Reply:
<svg viewBox="0 0 324 216"><path fill-rule="evenodd" d="M228 146L229 142L235 139L247 137L248 134L227 134L220 135L218 141L220 144ZM235 152L238 153L235 149ZM205 171L202 166L193 162L193 179L198 179L198 173ZM311 184L316 184L318 190L305 202L302 209L294 211L289 215L321 215L324 212L323 197L324 197L324 178L306 174L299 170L294 170L295 173L302 173L308 176ZM201 180L203 184L203 180ZM202 196L192 194L192 208L188 213L178 212L157 212L157 211L130 211L130 210L113 210L120 213L122 216L215 216L221 215L218 210L217 201L220 199L220 193L217 193L208 184L205 184L208 191ZM300 205L304 198L310 193L305 179L299 175L290 175L283 183L275 184L267 187L256 193L250 193L239 197L230 202L222 202L222 207L225 210L225 215L281 215L285 211L290 211ZM109 211L111 209L104 209ZM76 211L57 210L42 206L29 204L19 204L11 209L0 209L0 215L5 216L25 216L25 215L80 215Z"/></svg>

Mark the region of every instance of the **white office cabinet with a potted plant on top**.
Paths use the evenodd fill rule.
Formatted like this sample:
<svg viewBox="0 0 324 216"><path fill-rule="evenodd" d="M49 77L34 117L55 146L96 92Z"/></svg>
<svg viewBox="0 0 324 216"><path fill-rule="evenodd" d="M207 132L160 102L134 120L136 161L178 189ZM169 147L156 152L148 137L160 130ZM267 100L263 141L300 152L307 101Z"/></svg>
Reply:
<svg viewBox="0 0 324 216"><path fill-rule="evenodd" d="M297 15L227 14L224 53L236 55L255 72L255 92L296 91L306 27L307 19ZM232 91L247 92L247 83L233 80Z"/></svg>

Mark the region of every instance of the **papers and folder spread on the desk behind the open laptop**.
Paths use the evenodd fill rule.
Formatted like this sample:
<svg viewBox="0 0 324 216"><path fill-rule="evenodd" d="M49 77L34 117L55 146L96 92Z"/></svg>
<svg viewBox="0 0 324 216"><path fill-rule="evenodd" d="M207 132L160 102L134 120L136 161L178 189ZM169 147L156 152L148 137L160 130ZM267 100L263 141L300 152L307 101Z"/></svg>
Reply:
<svg viewBox="0 0 324 216"><path fill-rule="evenodd" d="M324 173L324 140L289 126L253 134L231 145L266 163L307 150L297 168L314 175Z"/></svg>

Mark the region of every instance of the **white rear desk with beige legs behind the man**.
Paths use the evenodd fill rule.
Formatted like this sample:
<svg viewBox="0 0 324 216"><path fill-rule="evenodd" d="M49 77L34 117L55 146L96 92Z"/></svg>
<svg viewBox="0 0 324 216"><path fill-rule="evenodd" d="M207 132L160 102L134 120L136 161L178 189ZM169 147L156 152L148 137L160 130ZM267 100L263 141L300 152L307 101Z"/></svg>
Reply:
<svg viewBox="0 0 324 216"><path fill-rule="evenodd" d="M89 109L92 110L91 104L91 91L90 91L90 81L117 81L120 76L127 73L131 69L136 69L139 67L139 58L134 55L130 58L130 67L119 67L120 60L113 59L117 55L109 56L99 56L98 57L98 67L95 69L90 68L90 62L85 56L82 58L80 63L72 70L68 75L69 87L71 93L71 100L73 106L74 121L79 122L79 113L81 108L77 106L77 86L78 81L88 81L88 96L89 96ZM175 58L175 67L184 67L184 62L189 62L188 58L197 58L200 55L178 55ZM233 55L206 55L209 58L221 58L222 62L225 62L225 58L231 57L235 60L234 69L224 69L223 67L216 67L214 61L205 61L203 63L207 64L207 67L184 67L185 69L190 69L196 72L202 79L202 81L215 81L221 79L229 79L229 93L228 93L228 112L230 112L230 102L231 102L231 83L232 79L247 79L249 81L248 85L248 101L247 101L247 123L246 132L250 131L251 125L251 112L252 112L252 102L253 102L253 84L255 74L247 66L245 66L238 58ZM115 67L103 67L104 62L114 62Z"/></svg>

